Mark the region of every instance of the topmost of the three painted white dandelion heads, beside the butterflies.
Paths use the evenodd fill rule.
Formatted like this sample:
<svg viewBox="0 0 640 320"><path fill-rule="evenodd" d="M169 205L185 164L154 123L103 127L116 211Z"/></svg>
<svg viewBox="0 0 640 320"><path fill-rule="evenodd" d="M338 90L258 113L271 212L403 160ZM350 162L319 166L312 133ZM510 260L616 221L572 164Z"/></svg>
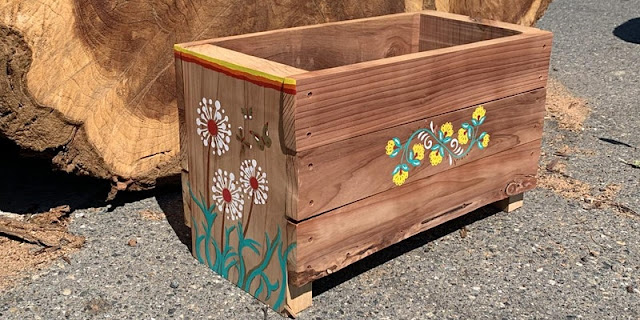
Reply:
<svg viewBox="0 0 640 320"><path fill-rule="evenodd" d="M198 125L198 135L205 147L209 144L213 147L213 154L221 156L229 151L229 142L231 142L231 126L229 125L229 117L224 116L224 109L220 106L220 101L215 102L211 99L202 98L198 107L199 118L196 118ZM215 110L213 109L215 106Z"/></svg>

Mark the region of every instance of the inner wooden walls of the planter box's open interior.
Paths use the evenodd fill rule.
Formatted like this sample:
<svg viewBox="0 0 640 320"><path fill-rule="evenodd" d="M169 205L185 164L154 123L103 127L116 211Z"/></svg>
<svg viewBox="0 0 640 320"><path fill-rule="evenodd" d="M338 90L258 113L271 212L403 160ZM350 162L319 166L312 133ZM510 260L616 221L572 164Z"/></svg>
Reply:
<svg viewBox="0 0 640 320"><path fill-rule="evenodd" d="M425 14L319 25L212 43L314 71L519 34Z"/></svg>

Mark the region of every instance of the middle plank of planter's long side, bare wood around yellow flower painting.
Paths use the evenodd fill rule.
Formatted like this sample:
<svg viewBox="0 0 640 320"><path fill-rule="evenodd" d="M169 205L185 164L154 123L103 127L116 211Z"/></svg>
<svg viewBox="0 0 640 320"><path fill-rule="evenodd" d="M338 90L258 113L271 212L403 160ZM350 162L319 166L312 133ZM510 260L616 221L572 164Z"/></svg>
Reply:
<svg viewBox="0 0 640 320"><path fill-rule="evenodd" d="M475 148L469 155L449 166L424 163L412 169L408 181L419 180L442 171L450 170L476 159L487 157L520 144L542 138L545 90L538 89L504 98L484 105L487 120L480 127L491 136L490 146L484 150ZM303 220L328 210L358 201L395 187L391 172L399 163L399 157L390 159L384 146L391 138L398 137L402 143L420 128L452 122L456 131L462 122L470 122L475 106L437 117L421 119L405 125L342 140L298 153L300 168L298 181L298 211L289 216ZM517 124L517 125L514 125ZM415 141L418 143L418 141ZM313 203L313 205L310 205Z"/></svg>

